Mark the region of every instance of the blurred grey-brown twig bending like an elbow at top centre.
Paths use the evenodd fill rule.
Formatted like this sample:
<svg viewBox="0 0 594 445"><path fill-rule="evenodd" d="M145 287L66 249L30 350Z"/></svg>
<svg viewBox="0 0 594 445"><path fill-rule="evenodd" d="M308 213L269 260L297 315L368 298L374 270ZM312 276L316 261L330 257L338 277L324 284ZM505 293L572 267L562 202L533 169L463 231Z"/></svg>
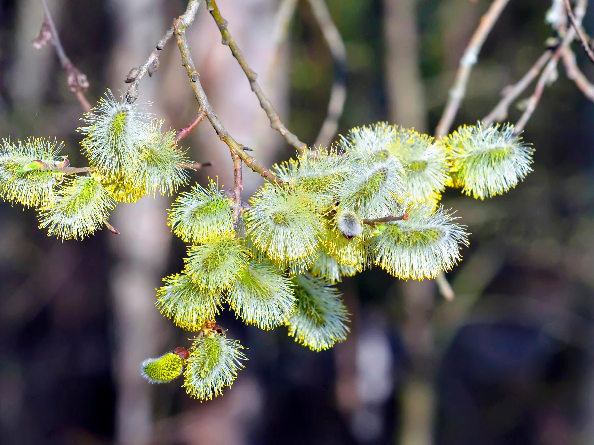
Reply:
<svg viewBox="0 0 594 445"><path fill-rule="evenodd" d="M346 47L324 0L308 0L315 20L326 40L334 60L334 82L330 89L326 119L315 138L314 145L328 147L338 132L338 123L346 101Z"/></svg>

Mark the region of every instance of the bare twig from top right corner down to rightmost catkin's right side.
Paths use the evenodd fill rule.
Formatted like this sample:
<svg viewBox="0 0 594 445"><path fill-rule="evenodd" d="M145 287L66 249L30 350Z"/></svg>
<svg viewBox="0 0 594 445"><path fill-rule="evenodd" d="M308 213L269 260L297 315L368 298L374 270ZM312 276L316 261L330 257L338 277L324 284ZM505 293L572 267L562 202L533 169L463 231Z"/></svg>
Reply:
<svg viewBox="0 0 594 445"><path fill-rule="evenodd" d="M584 15L586 14L586 5L587 0L579 0L579 2L576 5L575 19L577 27L582 26L582 20L584 18ZM567 31L567 34L565 34L563 41L557 47L557 49L551 56L551 60L549 60L549 62L545 66L545 69L542 71L541 77L536 83L534 93L532 94L532 96L530 96L530 98L527 101L526 110L515 125L516 128L514 130L514 134L520 134L524 130L526 123L530 120L530 117L532 117L534 110L536 110L536 106L541 100L542 93L544 93L546 85L557 71L557 63L559 62L561 55L563 55L565 49L567 49L571 45L571 42L573 42L575 38L576 26L573 26Z"/></svg>

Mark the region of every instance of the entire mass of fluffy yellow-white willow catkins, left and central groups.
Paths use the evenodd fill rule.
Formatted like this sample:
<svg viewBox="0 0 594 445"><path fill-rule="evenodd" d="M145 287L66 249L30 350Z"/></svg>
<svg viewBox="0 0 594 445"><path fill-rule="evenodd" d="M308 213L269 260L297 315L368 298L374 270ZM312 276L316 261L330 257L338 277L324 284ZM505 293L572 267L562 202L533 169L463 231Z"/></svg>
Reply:
<svg viewBox="0 0 594 445"><path fill-rule="evenodd" d="M92 167L84 176L52 170L67 165L55 142L3 139L0 148L0 197L37 208L50 235L88 236L116 202L170 195L187 181L175 132L143 110L108 93L82 120ZM156 306L197 335L183 354L147 359L141 372L153 383L183 375L201 400L231 386L246 357L214 322L224 306L248 325L285 326L314 351L333 347L349 332L336 288L343 276L380 266L396 278L424 279L451 269L467 233L440 205L445 187L500 195L529 173L532 152L511 125L479 122L435 141L377 123L273 166L282 183L260 187L238 216L215 181L196 184L168 211L187 256L181 272L163 279Z"/></svg>

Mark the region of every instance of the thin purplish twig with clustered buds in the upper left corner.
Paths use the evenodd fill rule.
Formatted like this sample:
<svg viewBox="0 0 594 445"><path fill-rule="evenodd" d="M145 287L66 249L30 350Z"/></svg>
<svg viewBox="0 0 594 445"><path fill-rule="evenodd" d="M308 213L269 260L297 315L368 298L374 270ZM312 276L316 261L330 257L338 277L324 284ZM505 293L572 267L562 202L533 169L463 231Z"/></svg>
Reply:
<svg viewBox="0 0 594 445"><path fill-rule="evenodd" d="M91 109L91 104L87 98L84 97L83 91L89 88L89 80L87 79L87 76L82 71L80 71L80 69L74 66L72 61L66 55L64 47L62 47L62 42L60 42L56 25L53 23L52 14L49 11L48 4L45 0L41 0L41 2L45 11L45 19L43 20L41 29L39 31L39 36L37 36L36 39L33 39L33 42L31 43L37 49L45 46L48 42L53 44L56 49L56 53L58 54L60 65L62 65L62 69L64 69L64 72L66 73L66 81L69 90L76 95L81 107L83 107L83 110L88 112Z"/></svg>

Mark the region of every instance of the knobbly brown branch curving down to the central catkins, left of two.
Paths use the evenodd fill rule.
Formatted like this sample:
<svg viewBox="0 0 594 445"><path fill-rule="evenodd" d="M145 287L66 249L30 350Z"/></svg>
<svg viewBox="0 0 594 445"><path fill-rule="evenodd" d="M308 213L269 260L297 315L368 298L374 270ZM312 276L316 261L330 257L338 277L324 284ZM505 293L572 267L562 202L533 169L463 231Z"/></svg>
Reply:
<svg viewBox="0 0 594 445"><path fill-rule="evenodd" d="M191 2L197 2L198 4L200 4L200 0L191 0ZM220 121L219 117L214 112L213 107L211 107L210 102L208 102L206 93L204 93L204 89L202 88L202 85L200 83L198 71L196 71L194 62L192 61L192 57L189 52L190 50L188 40L185 36L186 28L187 26L185 26L183 16L177 18L173 22L173 32L176 36L176 40L179 47L179 53L182 57L182 65L186 68L190 81L189 83L192 87L192 90L194 90L194 96L198 101L198 105L206 113L208 120L210 120L210 123L217 132L217 135L219 135L220 140L227 144L232 156L238 155L242 159L242 161L244 161L247 167L254 170L256 173L261 174L261 176L263 176L268 181L272 183L282 184L282 180L274 176L274 174L272 174L268 169L266 169L266 167L260 164L254 157L247 154L247 152L244 150L244 146L238 144L238 142L236 142L235 139L232 138L232 136L223 126L223 123Z"/></svg>

